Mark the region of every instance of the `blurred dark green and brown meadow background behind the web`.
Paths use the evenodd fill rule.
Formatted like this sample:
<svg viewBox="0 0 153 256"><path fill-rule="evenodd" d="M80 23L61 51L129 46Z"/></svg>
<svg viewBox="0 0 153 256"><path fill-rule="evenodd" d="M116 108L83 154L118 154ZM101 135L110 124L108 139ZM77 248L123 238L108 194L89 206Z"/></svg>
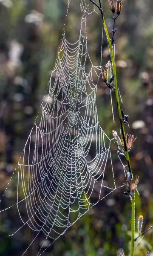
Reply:
<svg viewBox="0 0 153 256"><path fill-rule="evenodd" d="M71 0L66 31L76 40L76 26L80 23L77 0ZM86 0L86 3L88 0ZM89 4L91 4L89 2ZM153 1L123 0L122 13L116 20L116 68L122 108L129 115L128 134L137 137L130 151L134 175L139 176L136 194L136 222L144 216L143 230L153 224ZM28 134L40 108L41 99L54 67L60 45L68 0L0 0L0 195L6 188ZM109 32L112 14L108 1L102 0ZM94 63L99 63L102 20L93 13L87 24L88 50ZM107 40L103 37L102 64L109 60ZM113 123L110 90L102 79L97 88L97 109L102 128L111 137L119 133L119 122L114 102ZM112 148L114 151L115 145ZM108 167L109 168L109 167ZM113 155L115 179L125 182L124 172L116 154ZM3 197L1 209L15 204L14 174L10 189ZM112 193L79 219L45 252L44 256L113 256L119 248L129 253L130 200L123 195L125 189ZM96 197L96 193L94 194ZM24 209L23 209L24 212ZM17 226L18 213L12 210L1 217L0 256L20 256L34 239L26 229L20 238L8 237ZM29 256L37 254L42 237L35 241ZM49 242L49 241L48 241ZM136 255L144 256L153 249L150 230L136 247Z"/></svg>

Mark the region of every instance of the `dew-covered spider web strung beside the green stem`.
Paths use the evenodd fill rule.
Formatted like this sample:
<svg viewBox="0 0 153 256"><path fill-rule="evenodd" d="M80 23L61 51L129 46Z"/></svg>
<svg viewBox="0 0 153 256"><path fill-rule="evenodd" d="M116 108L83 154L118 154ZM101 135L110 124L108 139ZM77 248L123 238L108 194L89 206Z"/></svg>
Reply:
<svg viewBox="0 0 153 256"><path fill-rule="evenodd" d="M10 236L25 226L37 232L22 255L40 232L45 239L56 241L117 188L111 140L98 121L96 90L101 64L94 66L89 56L87 8L81 1L83 15L75 43L67 41L63 29L48 92L18 163L17 203L7 209L17 207L23 225ZM106 182L108 161L111 169ZM92 198L95 189L98 191L96 201ZM26 209L24 215L23 209ZM46 250L44 243L37 255Z"/></svg>

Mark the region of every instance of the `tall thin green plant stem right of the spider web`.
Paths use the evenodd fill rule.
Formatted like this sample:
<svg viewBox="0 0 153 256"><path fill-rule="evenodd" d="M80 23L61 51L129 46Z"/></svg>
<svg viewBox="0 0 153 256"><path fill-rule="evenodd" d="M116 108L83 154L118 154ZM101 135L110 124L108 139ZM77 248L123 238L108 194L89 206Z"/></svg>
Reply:
<svg viewBox="0 0 153 256"><path fill-rule="evenodd" d="M95 4L93 0L90 0L90 1L93 4ZM107 37L107 40L108 40L108 46L109 46L109 49L110 49L112 68L113 68L113 73L115 75L115 77L114 77L115 96L116 96L116 103L117 103L117 110L118 110L118 114L119 114L121 132L122 132L122 137L123 137L124 146L125 146L125 157L126 157L126 160L127 160L128 170L129 170L129 172L131 174L131 177L132 177L132 180L133 180L133 173L132 173L132 169L131 169L131 165L130 165L130 157L129 157L129 153L128 153L128 150L127 150L127 142L126 142L126 139L125 139L125 129L124 129L124 124L122 122L122 114L121 114L121 108L120 108L120 102L119 102L119 93L118 93L118 86L117 86L116 67L115 67L115 59L114 59L114 54L113 54L113 47L111 45L111 39L110 39L109 34L108 34L108 29L107 29L107 26L106 26L106 23L105 23L105 19L104 19L104 15L103 15L103 12L102 12L102 6L101 6L101 1L100 0L99 0L99 6L97 6L97 7L99 8L99 11L101 12L101 15L102 15L102 22L103 22L106 37ZM135 193L133 195L131 206L132 206L132 212L131 212L131 249L130 249L130 256L133 256L134 255L134 233L135 233Z"/></svg>

